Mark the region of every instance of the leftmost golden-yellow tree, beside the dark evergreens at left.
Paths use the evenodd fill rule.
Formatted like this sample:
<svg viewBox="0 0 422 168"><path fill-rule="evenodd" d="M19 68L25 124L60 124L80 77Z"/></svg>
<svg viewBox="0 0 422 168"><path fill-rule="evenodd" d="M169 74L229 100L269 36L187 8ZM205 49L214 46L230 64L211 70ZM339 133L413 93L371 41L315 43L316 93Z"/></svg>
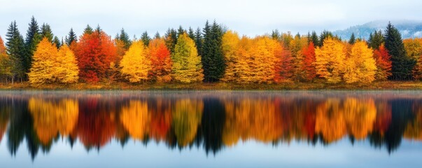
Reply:
<svg viewBox="0 0 422 168"><path fill-rule="evenodd" d="M55 82L54 72L57 57L57 48L48 38L38 43L34 52L33 62L29 70L29 82L31 85L41 85L43 83Z"/></svg>

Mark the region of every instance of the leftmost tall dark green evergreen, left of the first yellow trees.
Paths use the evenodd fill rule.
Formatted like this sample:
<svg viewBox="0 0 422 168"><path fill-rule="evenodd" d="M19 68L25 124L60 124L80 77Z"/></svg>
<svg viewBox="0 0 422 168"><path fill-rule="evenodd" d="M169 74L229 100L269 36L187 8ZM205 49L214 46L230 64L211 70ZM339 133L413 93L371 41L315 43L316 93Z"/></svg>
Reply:
<svg viewBox="0 0 422 168"><path fill-rule="evenodd" d="M25 52L24 39L17 29L16 21L10 23L8 31L6 33L6 49L7 54L10 56L12 62L12 83L15 76L24 79L26 73L31 67L31 59L27 57Z"/></svg>

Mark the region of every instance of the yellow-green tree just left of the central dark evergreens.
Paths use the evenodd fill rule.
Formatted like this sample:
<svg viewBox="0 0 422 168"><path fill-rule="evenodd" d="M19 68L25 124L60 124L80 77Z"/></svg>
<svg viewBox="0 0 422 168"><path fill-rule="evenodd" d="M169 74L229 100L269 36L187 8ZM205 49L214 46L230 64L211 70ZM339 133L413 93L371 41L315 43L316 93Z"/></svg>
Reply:
<svg viewBox="0 0 422 168"><path fill-rule="evenodd" d="M195 42L182 34L177 39L174 54L171 55L173 66L172 78L181 83L195 83L204 79L201 57L199 57Z"/></svg>

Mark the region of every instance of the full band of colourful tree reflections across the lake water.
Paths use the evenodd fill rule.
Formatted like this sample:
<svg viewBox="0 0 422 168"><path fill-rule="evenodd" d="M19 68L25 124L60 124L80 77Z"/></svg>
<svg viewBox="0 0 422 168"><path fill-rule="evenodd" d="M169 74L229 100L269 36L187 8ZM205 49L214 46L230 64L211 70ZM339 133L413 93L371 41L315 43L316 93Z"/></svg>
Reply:
<svg viewBox="0 0 422 168"><path fill-rule="evenodd" d="M5 136L4 134L7 134ZM239 141L330 145L369 141L388 153L402 138L422 140L416 94L196 92L145 94L6 94L0 96L0 141L15 155L25 140L34 158L58 139L87 150L111 140L164 142L169 148L218 153Z"/></svg>

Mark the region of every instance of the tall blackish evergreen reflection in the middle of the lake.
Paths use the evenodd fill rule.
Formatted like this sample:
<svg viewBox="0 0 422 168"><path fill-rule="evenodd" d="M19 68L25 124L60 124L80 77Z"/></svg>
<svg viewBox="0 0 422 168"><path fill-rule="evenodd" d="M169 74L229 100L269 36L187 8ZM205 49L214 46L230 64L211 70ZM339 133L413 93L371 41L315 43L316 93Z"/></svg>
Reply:
<svg viewBox="0 0 422 168"><path fill-rule="evenodd" d="M225 124L225 108L215 98L204 99L204 113L197 137L203 139L206 153L214 154L223 148L223 127Z"/></svg>

